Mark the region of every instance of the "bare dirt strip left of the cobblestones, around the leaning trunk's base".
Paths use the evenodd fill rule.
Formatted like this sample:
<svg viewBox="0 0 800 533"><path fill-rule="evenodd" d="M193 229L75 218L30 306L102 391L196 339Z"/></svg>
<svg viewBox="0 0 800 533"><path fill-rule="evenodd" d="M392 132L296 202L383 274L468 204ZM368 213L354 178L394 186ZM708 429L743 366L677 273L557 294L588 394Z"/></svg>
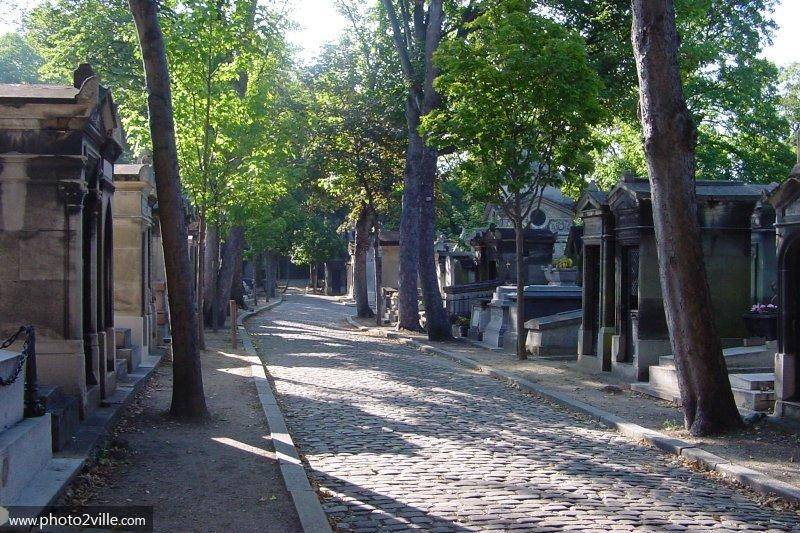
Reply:
<svg viewBox="0 0 800 533"><path fill-rule="evenodd" d="M62 503L152 505L155 531L302 531L281 477L243 349L206 335L203 382L211 417L165 416L172 372L162 364L128 408L109 448Z"/></svg>

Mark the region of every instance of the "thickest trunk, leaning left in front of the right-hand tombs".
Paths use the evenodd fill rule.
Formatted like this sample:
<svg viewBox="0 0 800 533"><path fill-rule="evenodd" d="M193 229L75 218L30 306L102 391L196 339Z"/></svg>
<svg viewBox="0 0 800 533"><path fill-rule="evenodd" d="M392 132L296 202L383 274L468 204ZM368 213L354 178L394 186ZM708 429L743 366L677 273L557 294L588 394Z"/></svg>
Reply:
<svg viewBox="0 0 800 533"><path fill-rule="evenodd" d="M633 1L633 47L664 311L686 427L693 435L739 428L703 261L693 183L697 136L681 86L673 1Z"/></svg>

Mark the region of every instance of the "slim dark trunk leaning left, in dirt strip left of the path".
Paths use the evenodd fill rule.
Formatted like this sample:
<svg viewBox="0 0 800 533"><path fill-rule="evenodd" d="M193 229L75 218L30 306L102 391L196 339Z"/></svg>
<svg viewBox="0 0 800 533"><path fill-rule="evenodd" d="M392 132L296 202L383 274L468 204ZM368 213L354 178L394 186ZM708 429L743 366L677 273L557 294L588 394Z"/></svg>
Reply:
<svg viewBox="0 0 800 533"><path fill-rule="evenodd" d="M129 4L144 60L153 168L172 319L173 386L170 414L179 418L204 418L208 415L208 409L197 345L197 300L194 280L190 275L189 235L184 219L164 36L158 24L156 2L129 0Z"/></svg>

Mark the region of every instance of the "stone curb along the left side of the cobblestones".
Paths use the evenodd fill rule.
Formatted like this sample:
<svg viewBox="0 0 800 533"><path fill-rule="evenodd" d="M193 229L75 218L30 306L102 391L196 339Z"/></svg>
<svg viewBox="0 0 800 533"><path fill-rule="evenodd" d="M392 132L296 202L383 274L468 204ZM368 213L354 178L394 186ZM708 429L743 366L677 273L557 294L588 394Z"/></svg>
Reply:
<svg viewBox="0 0 800 533"><path fill-rule="evenodd" d="M283 418L283 413L281 413L278 406L278 400L272 391L269 379L267 379L266 367L256 352L250 332L242 325L242 322L247 318L262 311L273 309L282 302L283 298L254 311L243 313L238 321L238 326L242 333L242 344L251 358L250 371L253 375L253 382L258 392L261 408L267 418L270 438L275 446L275 456L278 459L283 482L289 494L292 495L292 501L300 518L300 525L306 533L330 533L333 530L328 522L328 517L322 509L317 493L311 486L308 474L300 459L300 454L292 440L292 436L289 434L286 420Z"/></svg>

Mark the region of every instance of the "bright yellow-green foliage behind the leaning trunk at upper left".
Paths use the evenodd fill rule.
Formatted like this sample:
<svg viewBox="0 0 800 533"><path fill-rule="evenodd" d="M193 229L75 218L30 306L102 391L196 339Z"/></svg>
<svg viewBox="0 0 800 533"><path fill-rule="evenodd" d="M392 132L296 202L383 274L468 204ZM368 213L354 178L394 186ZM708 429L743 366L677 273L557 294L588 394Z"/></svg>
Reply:
<svg viewBox="0 0 800 533"><path fill-rule="evenodd" d="M296 213L292 202L280 205L286 214L279 204L302 178L308 120L283 17L254 0L175 0L162 5L161 22L184 188L209 224L224 231L246 223L252 246L287 250ZM127 1L48 0L29 14L26 31L49 81L70 83L75 66L92 64L120 105L129 156L148 157Z"/></svg>

